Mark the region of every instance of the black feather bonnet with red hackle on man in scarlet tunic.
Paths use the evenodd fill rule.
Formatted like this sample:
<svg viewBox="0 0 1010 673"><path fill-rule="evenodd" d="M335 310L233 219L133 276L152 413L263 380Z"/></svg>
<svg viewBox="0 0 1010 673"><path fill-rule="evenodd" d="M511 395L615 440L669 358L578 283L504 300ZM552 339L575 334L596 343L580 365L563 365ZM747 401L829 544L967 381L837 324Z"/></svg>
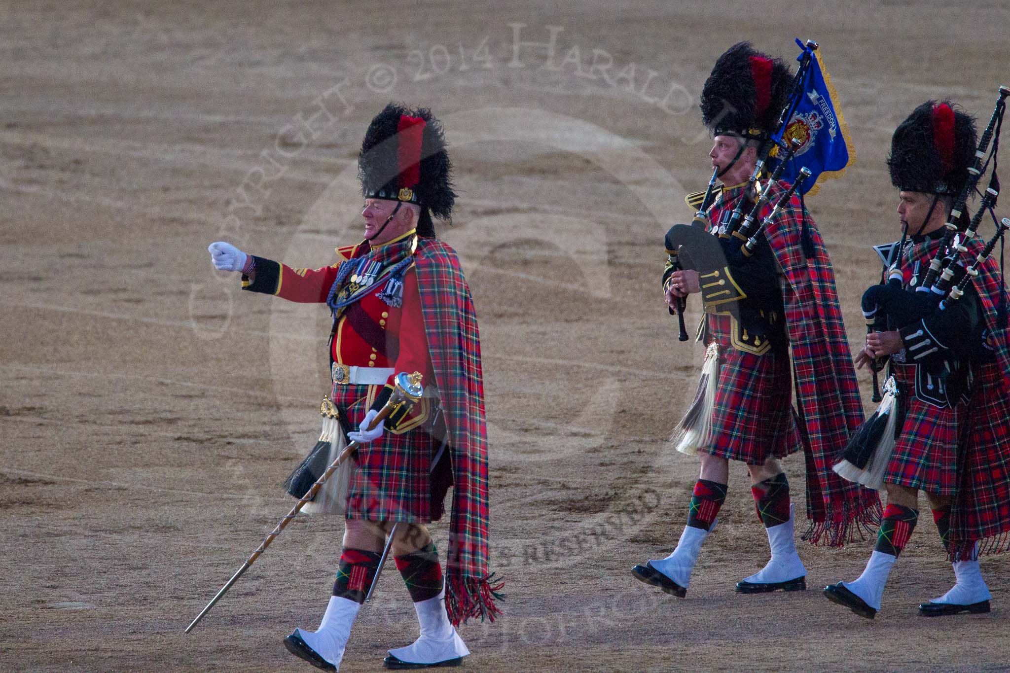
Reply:
<svg viewBox="0 0 1010 673"><path fill-rule="evenodd" d="M451 172L441 124L427 108L390 103L369 124L358 155L362 194L420 206L421 236L434 237L432 216L450 221Z"/></svg>

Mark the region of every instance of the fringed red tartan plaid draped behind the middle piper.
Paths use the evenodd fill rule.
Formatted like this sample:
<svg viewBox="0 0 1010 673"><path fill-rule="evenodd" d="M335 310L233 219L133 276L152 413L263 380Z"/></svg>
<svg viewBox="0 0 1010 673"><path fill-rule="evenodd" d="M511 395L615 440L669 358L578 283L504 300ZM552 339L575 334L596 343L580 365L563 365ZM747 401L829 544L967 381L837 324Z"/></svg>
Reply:
<svg viewBox="0 0 1010 673"><path fill-rule="evenodd" d="M772 189L774 203L788 187L780 183ZM820 232L797 197L769 224L766 235L786 276L783 303L811 522L803 539L841 547L856 535L862 539L863 531L879 522L880 498L877 491L846 481L831 469L864 420L834 271ZM813 250L809 258L803 250L805 235Z"/></svg>

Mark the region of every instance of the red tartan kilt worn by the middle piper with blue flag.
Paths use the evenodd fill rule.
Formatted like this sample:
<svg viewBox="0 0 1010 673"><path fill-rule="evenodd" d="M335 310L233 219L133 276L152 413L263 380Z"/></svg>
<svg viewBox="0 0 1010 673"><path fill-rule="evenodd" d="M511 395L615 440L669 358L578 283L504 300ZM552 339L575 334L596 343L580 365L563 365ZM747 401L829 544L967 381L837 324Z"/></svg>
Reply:
<svg viewBox="0 0 1010 673"><path fill-rule="evenodd" d="M747 465L799 451L789 356L721 347L719 355L712 442L701 450Z"/></svg>

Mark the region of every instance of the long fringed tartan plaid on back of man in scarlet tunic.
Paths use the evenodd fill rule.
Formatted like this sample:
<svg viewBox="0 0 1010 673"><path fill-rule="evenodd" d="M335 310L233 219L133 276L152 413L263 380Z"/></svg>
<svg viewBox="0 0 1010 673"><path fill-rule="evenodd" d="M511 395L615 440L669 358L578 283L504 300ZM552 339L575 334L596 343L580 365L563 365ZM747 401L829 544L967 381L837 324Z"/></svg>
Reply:
<svg viewBox="0 0 1010 673"><path fill-rule="evenodd" d="M488 570L488 433L477 315L452 248L419 238L414 260L452 457L445 605L456 625L472 616L493 622L501 583Z"/></svg>

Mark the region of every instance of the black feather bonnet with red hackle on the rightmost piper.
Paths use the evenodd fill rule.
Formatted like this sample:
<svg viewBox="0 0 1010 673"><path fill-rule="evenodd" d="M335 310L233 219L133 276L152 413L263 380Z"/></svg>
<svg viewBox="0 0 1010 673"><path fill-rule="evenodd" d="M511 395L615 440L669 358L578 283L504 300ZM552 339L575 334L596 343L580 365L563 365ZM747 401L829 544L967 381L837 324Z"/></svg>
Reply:
<svg viewBox="0 0 1010 673"><path fill-rule="evenodd" d="M956 196L978 145L975 119L949 101L926 101L898 125L887 165L903 192Z"/></svg>

